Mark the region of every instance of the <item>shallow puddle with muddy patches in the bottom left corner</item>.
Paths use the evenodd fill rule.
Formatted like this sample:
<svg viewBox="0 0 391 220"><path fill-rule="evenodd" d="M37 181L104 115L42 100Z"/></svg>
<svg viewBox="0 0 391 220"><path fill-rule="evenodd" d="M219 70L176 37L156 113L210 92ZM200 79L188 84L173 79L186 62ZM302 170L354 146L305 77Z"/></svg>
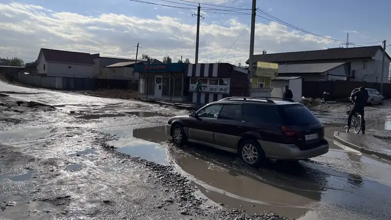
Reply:
<svg viewBox="0 0 391 220"><path fill-rule="evenodd" d="M40 201L26 202L21 196L1 198L0 203L6 202L7 208L0 212L0 219L48 219L50 215L43 212L49 207Z"/></svg>

